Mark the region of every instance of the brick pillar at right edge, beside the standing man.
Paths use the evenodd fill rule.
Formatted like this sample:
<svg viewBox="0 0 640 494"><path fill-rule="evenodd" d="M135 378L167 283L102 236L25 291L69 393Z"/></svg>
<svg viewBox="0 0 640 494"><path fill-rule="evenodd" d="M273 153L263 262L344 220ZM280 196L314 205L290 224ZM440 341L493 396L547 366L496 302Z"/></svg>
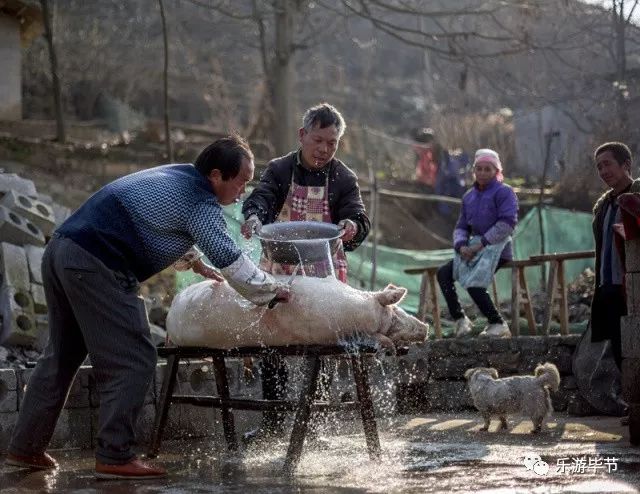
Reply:
<svg viewBox="0 0 640 494"><path fill-rule="evenodd" d="M629 404L629 438L640 445L640 237L625 242L627 316L622 317L622 390Z"/></svg>

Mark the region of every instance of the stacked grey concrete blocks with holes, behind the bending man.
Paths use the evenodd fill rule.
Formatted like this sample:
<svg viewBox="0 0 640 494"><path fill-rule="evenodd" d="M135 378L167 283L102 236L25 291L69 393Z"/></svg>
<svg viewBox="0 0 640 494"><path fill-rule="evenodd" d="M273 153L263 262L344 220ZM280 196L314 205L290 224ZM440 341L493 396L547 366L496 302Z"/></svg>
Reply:
<svg viewBox="0 0 640 494"><path fill-rule="evenodd" d="M40 346L47 330L41 264L46 239L68 215L32 181L0 173L0 344ZM56 221L58 216L58 221Z"/></svg>

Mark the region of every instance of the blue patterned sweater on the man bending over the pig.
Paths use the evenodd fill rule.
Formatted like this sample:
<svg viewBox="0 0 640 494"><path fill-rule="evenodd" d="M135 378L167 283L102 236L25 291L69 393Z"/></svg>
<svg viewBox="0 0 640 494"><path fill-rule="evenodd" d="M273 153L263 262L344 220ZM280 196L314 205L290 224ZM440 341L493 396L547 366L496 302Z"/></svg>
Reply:
<svg viewBox="0 0 640 494"><path fill-rule="evenodd" d="M209 181L190 164L158 166L105 185L57 232L139 281L194 244L217 268L240 256Z"/></svg>

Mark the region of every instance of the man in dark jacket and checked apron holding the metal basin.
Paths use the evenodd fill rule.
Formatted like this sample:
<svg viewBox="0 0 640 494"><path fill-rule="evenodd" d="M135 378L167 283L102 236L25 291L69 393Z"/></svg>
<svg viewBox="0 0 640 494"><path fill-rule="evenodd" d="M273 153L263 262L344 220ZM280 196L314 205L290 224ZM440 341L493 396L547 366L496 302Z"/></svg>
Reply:
<svg viewBox="0 0 640 494"><path fill-rule="evenodd" d="M300 147L270 161L260 183L244 202L245 222L241 231L250 238L262 225L276 221L321 221L334 223L342 230L342 245L333 255L333 269L326 263L305 265L307 276L325 277L335 272L347 281L347 258L366 238L371 223L360 196L356 174L335 158L345 131L342 115L333 106L322 103L309 108L298 130ZM271 274L292 274L297 266L270 262L264 256L260 267ZM331 268L331 266L329 267ZM287 370L277 357L262 361L262 388L265 399L282 399ZM265 413L265 429L277 431L282 418Z"/></svg>

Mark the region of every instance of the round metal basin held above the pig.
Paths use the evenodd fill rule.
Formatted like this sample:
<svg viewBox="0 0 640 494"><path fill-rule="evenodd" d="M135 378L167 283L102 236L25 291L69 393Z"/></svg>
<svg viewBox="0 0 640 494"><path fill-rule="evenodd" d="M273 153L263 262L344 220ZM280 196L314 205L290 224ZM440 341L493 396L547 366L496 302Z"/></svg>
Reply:
<svg viewBox="0 0 640 494"><path fill-rule="evenodd" d="M327 260L328 252L335 254L340 229L333 223L282 221L264 225L257 236L271 262L298 264L302 260L309 264Z"/></svg>

